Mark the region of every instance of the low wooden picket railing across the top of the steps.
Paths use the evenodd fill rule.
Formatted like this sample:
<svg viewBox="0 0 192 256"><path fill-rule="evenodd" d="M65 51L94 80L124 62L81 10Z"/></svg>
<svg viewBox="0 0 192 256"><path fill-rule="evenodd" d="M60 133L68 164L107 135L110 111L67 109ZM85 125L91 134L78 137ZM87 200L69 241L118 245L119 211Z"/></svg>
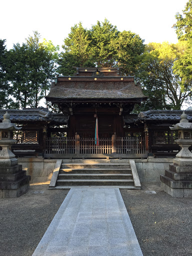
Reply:
<svg viewBox="0 0 192 256"><path fill-rule="evenodd" d="M146 155L145 141L143 137L116 137L99 138L98 145L94 138L75 137L49 137L46 139L44 149L45 157L56 157L61 154L72 156L114 156L114 157L142 157ZM100 155L100 156L99 156Z"/></svg>

